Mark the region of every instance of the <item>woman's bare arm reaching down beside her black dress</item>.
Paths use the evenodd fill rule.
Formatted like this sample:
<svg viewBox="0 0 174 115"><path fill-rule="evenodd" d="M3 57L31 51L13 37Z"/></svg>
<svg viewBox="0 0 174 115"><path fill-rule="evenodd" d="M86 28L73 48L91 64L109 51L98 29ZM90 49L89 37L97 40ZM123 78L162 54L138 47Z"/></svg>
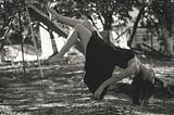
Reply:
<svg viewBox="0 0 174 115"><path fill-rule="evenodd" d="M100 95L104 88L109 87L110 85L114 84L115 81L119 81L129 75L134 75L139 72L140 62L135 58L129 61L129 65L126 69L124 69L121 74L119 74L119 77L111 77L107 79L95 92L94 98L100 99Z"/></svg>

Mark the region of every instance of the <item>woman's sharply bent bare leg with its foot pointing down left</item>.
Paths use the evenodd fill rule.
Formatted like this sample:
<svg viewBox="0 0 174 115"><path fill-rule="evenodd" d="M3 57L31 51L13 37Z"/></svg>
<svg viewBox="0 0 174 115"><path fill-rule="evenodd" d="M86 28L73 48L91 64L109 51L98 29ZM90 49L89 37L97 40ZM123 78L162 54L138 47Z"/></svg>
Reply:
<svg viewBox="0 0 174 115"><path fill-rule="evenodd" d="M70 48L75 44L75 42L77 41L77 38L79 38L79 41L84 48L84 51L86 51L86 47L87 47L87 43L90 39L90 36L91 36L90 30L88 30L83 25L77 24L75 26L74 30L72 31L72 34L67 37L67 41L63 46L61 51L57 55L50 58L49 61L47 61L47 62L52 63L54 61L60 61L63 58L63 55L70 50ZM84 52L84 54L86 52Z"/></svg>

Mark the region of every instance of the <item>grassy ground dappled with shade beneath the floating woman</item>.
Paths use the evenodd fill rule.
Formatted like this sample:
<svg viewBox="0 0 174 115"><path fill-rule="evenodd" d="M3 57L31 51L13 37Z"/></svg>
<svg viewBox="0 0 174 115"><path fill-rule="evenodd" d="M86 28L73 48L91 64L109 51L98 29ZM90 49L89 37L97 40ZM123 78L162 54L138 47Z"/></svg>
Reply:
<svg viewBox="0 0 174 115"><path fill-rule="evenodd" d="M144 61L165 82L174 81L174 64ZM0 115L173 115L174 99L156 99L147 106L133 106L130 99L109 91L103 100L91 99L83 81L84 59L38 67L1 67ZM116 71L114 72L114 74Z"/></svg>

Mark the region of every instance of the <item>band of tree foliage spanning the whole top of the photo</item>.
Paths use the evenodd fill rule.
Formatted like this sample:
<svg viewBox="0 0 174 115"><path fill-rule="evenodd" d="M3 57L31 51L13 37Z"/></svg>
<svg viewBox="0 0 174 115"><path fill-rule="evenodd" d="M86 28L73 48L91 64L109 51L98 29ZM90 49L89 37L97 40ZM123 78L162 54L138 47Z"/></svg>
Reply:
<svg viewBox="0 0 174 115"><path fill-rule="evenodd" d="M129 11L133 8L141 9L149 1L152 3L145 9L145 13L140 16L140 24L148 27L152 35L161 36L173 33L173 3L171 0L32 0L39 10L48 13L45 9L46 4L50 4L58 13L77 18L89 18L94 24L94 20L100 20L104 29L111 29L112 24L116 23L113 16L123 24L127 24L132 16ZM3 27L8 26L10 18L16 12L25 11L25 5L30 0L0 0L0 15L3 18ZM24 13L25 14L25 13ZM23 15L24 17L24 15ZM33 21L34 17L33 17ZM27 20L24 21L27 25ZM137 22L139 24L139 21ZM164 31L161 28L166 28ZM25 29L25 27L23 27ZM160 37L165 40L165 37ZM161 43L163 44L163 43Z"/></svg>

